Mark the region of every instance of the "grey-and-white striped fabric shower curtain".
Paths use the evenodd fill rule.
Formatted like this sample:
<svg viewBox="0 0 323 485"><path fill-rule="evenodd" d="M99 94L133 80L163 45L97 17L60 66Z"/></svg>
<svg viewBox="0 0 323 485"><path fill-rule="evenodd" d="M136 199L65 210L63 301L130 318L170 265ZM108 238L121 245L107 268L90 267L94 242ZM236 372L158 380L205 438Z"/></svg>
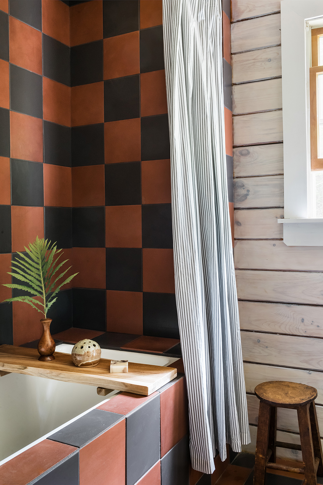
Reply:
<svg viewBox="0 0 323 485"><path fill-rule="evenodd" d="M175 292L192 467L250 442L224 143L220 0L163 0Z"/></svg>

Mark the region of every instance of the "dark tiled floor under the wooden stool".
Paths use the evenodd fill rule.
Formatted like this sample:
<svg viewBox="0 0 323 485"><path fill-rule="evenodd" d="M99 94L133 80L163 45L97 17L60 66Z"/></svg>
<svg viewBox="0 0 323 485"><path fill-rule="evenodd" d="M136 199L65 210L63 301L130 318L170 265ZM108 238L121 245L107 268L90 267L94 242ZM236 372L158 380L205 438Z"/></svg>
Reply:
<svg viewBox="0 0 323 485"><path fill-rule="evenodd" d="M277 459L277 463L284 465L292 464L297 466L297 462L288 462ZM249 453L239 453L224 473L217 480L218 485L253 485L253 468L255 456ZM266 476L266 485L302 485L304 475L278 470L270 470ZM323 477L317 477L317 483L323 484Z"/></svg>

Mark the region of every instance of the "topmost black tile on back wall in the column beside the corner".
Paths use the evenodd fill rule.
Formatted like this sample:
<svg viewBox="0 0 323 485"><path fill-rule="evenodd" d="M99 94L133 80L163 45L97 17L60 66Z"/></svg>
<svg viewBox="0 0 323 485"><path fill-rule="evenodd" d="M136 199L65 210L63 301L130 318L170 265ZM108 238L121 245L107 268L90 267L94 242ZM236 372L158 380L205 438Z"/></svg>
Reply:
<svg viewBox="0 0 323 485"><path fill-rule="evenodd" d="M71 86L103 81L103 40L71 47Z"/></svg>

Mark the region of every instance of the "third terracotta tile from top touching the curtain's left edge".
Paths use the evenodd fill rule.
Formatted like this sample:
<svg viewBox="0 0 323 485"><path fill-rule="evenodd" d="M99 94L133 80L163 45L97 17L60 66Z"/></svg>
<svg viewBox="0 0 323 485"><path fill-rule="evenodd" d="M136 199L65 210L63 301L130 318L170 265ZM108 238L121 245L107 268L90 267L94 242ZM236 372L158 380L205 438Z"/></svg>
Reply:
<svg viewBox="0 0 323 485"><path fill-rule="evenodd" d="M141 162L141 196L143 204L170 204L170 160Z"/></svg>

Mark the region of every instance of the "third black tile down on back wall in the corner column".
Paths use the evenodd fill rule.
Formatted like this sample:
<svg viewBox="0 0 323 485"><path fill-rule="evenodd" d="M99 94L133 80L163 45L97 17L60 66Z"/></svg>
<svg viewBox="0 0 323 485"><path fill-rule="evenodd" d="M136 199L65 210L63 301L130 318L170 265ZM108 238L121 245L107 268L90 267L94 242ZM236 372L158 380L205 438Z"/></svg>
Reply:
<svg viewBox="0 0 323 485"><path fill-rule="evenodd" d="M105 247L105 208L72 209L73 247Z"/></svg>

